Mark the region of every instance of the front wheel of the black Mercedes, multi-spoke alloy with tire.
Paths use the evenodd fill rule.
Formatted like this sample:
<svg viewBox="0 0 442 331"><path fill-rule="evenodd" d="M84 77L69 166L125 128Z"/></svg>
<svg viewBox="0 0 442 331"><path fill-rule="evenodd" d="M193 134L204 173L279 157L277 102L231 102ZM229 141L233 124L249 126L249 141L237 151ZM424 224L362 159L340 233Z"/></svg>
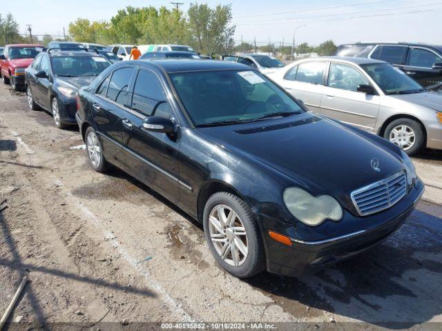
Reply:
<svg viewBox="0 0 442 331"><path fill-rule="evenodd" d="M265 269L265 249L255 215L235 194L218 192L206 202L204 234L215 260L239 278Z"/></svg>

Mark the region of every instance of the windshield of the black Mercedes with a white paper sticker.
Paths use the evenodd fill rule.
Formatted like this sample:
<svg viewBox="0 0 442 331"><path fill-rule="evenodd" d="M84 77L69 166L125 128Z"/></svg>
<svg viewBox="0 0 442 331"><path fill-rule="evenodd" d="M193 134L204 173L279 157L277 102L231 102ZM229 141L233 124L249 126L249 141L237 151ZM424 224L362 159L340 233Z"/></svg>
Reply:
<svg viewBox="0 0 442 331"><path fill-rule="evenodd" d="M222 70L171 74L173 86L197 127L221 126L304 112L259 72Z"/></svg>

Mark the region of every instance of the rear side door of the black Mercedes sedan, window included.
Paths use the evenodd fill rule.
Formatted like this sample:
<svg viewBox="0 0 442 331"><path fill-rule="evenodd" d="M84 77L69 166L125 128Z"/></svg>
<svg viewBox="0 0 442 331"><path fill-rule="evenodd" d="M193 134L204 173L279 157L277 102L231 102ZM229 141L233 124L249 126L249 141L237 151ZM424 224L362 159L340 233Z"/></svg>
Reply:
<svg viewBox="0 0 442 331"><path fill-rule="evenodd" d="M128 88L134 72L132 67L123 67L109 74L99 84L90 105L106 159L123 167L122 116L128 105Z"/></svg>

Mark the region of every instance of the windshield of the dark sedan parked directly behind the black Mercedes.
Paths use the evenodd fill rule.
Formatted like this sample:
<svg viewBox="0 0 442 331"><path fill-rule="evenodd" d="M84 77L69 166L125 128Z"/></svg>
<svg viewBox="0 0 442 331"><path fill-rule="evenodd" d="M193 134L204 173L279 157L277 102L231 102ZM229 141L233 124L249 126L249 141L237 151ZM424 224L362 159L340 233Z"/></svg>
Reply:
<svg viewBox="0 0 442 331"><path fill-rule="evenodd" d="M111 66L104 57L52 57L52 70L60 77L98 76Z"/></svg>

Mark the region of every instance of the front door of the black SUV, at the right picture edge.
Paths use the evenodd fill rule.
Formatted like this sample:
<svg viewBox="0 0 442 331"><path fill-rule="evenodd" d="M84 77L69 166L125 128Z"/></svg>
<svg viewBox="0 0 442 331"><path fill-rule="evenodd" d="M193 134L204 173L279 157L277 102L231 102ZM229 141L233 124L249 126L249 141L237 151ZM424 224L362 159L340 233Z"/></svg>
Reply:
<svg viewBox="0 0 442 331"><path fill-rule="evenodd" d="M423 86L431 86L442 82L441 64L441 55L433 50L411 47L404 70Z"/></svg>

